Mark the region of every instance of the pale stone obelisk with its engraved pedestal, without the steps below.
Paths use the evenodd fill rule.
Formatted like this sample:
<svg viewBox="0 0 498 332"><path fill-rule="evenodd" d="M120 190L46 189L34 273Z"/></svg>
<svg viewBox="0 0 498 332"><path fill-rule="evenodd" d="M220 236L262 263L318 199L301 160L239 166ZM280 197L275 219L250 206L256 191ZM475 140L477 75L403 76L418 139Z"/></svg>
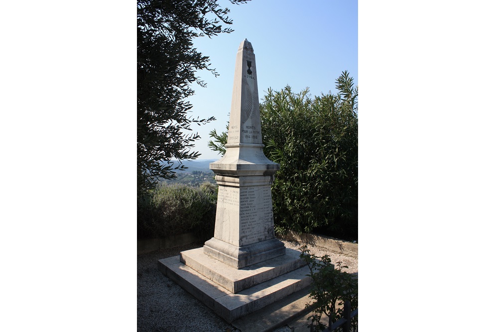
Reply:
<svg viewBox="0 0 498 332"><path fill-rule="evenodd" d="M285 254L275 238L271 183L280 165L265 157L254 51L246 39L237 52L226 153L209 168L216 174L218 206L214 237L204 252L243 268Z"/></svg>

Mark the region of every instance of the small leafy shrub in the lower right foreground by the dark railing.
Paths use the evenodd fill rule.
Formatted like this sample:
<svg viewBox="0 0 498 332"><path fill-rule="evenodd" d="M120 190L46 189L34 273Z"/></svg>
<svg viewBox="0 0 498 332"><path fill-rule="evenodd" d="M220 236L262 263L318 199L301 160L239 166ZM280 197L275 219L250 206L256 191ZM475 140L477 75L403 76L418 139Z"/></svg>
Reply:
<svg viewBox="0 0 498 332"><path fill-rule="evenodd" d="M347 266L337 262L337 267L331 263L330 257L324 255L317 257L310 254L306 245L301 247L301 258L306 260L310 269L307 274L311 277L310 298L314 303L308 303L306 307L315 306L313 315L308 317L311 324L318 328L314 331L322 331L327 328L320 320L322 315L327 316L327 321L334 324L344 316L344 303L351 303L351 311L358 308L358 277L343 269ZM358 331L358 316L351 321L353 331Z"/></svg>

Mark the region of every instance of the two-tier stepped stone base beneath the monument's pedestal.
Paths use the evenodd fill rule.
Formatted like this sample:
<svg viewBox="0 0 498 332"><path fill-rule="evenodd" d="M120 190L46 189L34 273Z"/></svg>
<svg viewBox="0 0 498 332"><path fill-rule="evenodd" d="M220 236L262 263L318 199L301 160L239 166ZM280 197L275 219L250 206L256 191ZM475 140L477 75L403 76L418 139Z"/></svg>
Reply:
<svg viewBox="0 0 498 332"><path fill-rule="evenodd" d="M160 259L159 270L227 322L246 316L311 284L300 252L242 269L228 266L204 253L203 248Z"/></svg>

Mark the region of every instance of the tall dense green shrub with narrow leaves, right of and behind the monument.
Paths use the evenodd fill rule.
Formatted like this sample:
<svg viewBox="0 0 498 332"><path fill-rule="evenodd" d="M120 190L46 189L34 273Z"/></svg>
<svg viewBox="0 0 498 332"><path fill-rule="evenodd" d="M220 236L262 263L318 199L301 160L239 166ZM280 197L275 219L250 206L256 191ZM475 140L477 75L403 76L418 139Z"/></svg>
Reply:
<svg viewBox="0 0 498 332"><path fill-rule="evenodd" d="M268 89L260 105L264 154L280 164L271 189L279 234L358 238L358 88L346 71L336 88L314 98ZM224 153L223 134L211 137L211 149Z"/></svg>

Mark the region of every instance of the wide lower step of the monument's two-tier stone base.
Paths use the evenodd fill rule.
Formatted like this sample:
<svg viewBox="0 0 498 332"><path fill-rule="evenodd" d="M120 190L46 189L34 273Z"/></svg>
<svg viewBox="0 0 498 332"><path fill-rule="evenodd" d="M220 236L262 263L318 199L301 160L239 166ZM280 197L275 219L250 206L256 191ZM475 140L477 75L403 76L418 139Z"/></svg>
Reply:
<svg viewBox="0 0 498 332"><path fill-rule="evenodd" d="M164 275L229 323L311 284L304 266L235 294L183 264L180 256L160 259L157 264Z"/></svg>

